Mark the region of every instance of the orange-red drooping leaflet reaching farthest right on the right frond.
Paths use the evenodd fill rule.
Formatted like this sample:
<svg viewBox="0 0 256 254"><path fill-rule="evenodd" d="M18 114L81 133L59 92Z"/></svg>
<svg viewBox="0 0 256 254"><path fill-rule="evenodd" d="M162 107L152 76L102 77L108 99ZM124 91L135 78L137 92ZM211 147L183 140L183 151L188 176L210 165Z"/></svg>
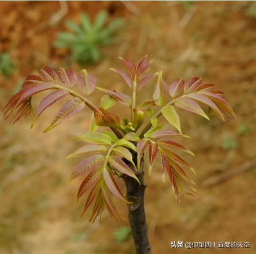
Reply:
<svg viewBox="0 0 256 254"><path fill-rule="evenodd" d="M203 94L210 98L221 112L226 113L229 117L236 119L236 114L233 111L232 107L227 103L226 99L222 98L220 95L211 93L210 91L200 91L200 94Z"/></svg>

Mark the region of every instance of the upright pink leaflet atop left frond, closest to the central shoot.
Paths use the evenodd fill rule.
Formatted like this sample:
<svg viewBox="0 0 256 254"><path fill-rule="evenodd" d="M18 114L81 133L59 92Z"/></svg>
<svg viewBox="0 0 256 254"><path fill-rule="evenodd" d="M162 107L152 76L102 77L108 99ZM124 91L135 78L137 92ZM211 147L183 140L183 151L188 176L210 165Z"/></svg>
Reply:
<svg viewBox="0 0 256 254"><path fill-rule="evenodd" d="M89 74L86 69L79 71L77 80L79 89L86 96L90 95L94 91L97 78L94 75Z"/></svg>

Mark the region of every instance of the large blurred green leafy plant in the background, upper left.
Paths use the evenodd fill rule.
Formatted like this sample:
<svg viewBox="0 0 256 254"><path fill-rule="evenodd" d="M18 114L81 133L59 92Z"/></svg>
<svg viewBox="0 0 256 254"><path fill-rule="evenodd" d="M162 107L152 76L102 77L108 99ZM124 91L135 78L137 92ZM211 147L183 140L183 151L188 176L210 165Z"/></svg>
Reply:
<svg viewBox="0 0 256 254"><path fill-rule="evenodd" d="M114 19L106 24L108 14L105 10L98 13L92 24L86 13L80 16L80 24L67 21L67 28L73 32L60 32L54 45L57 48L71 50L72 59L83 65L97 62L101 58L99 47L112 41L113 33L122 25L121 19Z"/></svg>

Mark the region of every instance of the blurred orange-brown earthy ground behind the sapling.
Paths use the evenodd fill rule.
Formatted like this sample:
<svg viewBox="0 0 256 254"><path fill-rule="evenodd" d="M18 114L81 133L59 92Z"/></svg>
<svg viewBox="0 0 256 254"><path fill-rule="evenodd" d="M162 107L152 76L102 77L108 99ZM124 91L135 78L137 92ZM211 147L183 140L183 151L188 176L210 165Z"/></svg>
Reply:
<svg viewBox="0 0 256 254"><path fill-rule="evenodd" d="M88 31L88 20L98 24L96 32ZM214 83L237 115L223 123L179 111L183 132L192 137L181 141L196 154L184 157L197 172L197 195L177 204L157 161L146 176L145 197L153 253L255 254L255 1L1 1L0 107L46 65L87 68L98 86L128 93L108 68L123 69L119 56L138 62L146 54L154 60L150 71L163 70L168 83L194 76ZM153 91L151 83L142 99ZM101 96L95 91L92 101ZM104 213L100 224L89 224L90 213L80 218L82 178L66 184L77 161L64 158L81 146L70 137L87 130L91 112L42 133L60 105L46 110L32 130L32 116L14 126L0 117L0 253L132 254L128 219L116 223ZM126 205L115 202L127 218ZM171 241L242 241L251 248L171 249Z"/></svg>

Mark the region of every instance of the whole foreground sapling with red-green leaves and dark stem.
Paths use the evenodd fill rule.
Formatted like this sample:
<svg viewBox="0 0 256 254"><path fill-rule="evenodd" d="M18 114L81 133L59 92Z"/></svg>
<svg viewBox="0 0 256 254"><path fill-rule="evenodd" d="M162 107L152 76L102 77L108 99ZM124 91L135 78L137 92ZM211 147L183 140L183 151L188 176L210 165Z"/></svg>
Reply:
<svg viewBox="0 0 256 254"><path fill-rule="evenodd" d="M118 73L124 80L128 86L129 95L121 91L97 87L96 77L89 74L86 69L75 75L70 68L59 68L57 74L55 70L45 67L39 70L40 76L30 75L26 78L20 91L11 97L4 107L3 113L5 119L12 116L11 120L15 123L32 112L31 98L34 95L51 90L35 111L31 124L33 127L45 109L69 97L51 124L44 130L47 132L65 119L80 113L86 106L89 107L93 111L89 131L77 137L86 144L67 157L85 156L70 176L72 180L86 175L77 194L77 200L79 200L85 193L89 193L82 215L92 206L89 221L94 222L98 216L100 218L104 209L107 209L113 218L122 218L114 205L112 193L127 203L136 251L144 254L150 253L144 210L144 193L147 186L144 182L146 151L149 176L158 155L161 161L163 181L167 175L174 195L180 202L184 194L195 194L195 189L190 184L193 181L184 167L192 172L194 169L177 155L176 150L190 155L194 154L187 147L173 140L175 137L187 137L182 132L177 108L210 120L199 106L199 102L207 105L209 113L223 121L224 116L235 118L236 115L227 103L224 93L217 90L213 84L203 84L201 78L190 78L187 82L181 78L170 82L167 86L163 80L162 71L144 74L151 63L147 56L138 64L120 59L128 73L114 68L111 70ZM138 105L138 94L154 79L156 79L155 91L151 94L151 99ZM89 100L89 96L96 89L104 93L98 107ZM115 112L109 111L116 103L124 107L120 117ZM147 112L149 117L143 126L146 119L144 112ZM158 122L161 116L176 130L163 129L163 124ZM99 126L109 127L112 132L97 131ZM61 138L59 137L60 141ZM126 196L123 195L118 185L118 178L122 178L125 182ZM124 232L127 235L127 230ZM121 238L124 239L123 230L121 234Z"/></svg>

